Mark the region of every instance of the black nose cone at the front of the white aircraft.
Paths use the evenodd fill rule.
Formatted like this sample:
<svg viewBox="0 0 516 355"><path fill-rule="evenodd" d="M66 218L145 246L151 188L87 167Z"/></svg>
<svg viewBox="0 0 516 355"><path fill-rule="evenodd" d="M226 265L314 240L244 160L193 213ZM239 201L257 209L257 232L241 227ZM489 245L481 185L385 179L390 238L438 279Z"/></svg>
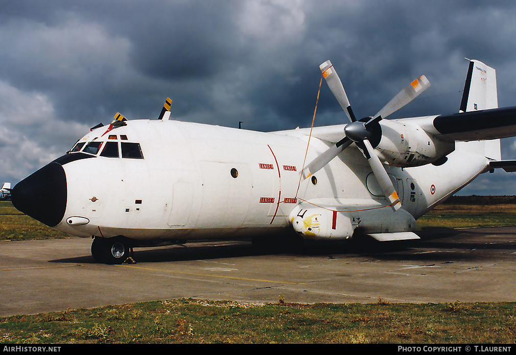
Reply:
<svg viewBox="0 0 516 355"><path fill-rule="evenodd" d="M65 215L67 183L58 163L43 166L17 183L11 191L12 204L23 213L54 227Z"/></svg>

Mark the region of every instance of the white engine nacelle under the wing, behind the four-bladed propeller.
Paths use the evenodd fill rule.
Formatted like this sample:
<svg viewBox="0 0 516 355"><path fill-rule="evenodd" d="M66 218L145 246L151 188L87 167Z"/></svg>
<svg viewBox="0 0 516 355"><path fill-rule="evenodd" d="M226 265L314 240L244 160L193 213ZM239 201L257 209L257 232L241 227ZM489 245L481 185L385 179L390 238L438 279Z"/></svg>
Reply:
<svg viewBox="0 0 516 355"><path fill-rule="evenodd" d="M414 123L382 120L378 157L398 167L437 162L455 150L455 142L440 140Z"/></svg>

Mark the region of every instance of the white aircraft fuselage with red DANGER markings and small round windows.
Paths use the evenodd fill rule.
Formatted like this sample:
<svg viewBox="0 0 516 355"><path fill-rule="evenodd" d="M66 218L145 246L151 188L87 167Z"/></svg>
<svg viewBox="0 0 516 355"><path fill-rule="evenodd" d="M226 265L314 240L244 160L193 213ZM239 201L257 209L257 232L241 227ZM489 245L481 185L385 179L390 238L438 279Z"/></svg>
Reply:
<svg viewBox="0 0 516 355"><path fill-rule="evenodd" d="M97 156L63 164L68 199L58 230L137 240L240 238L289 227L289 214L300 201L333 198L363 205L385 199L354 147L316 173L315 184L313 178L301 180L303 165L330 145L311 137L307 153L305 130L264 133L142 120L102 136L105 131L95 129L79 143L108 137L121 142L123 135L141 145L144 159ZM417 219L487 164L481 152L457 144L441 166L387 171L402 209Z"/></svg>

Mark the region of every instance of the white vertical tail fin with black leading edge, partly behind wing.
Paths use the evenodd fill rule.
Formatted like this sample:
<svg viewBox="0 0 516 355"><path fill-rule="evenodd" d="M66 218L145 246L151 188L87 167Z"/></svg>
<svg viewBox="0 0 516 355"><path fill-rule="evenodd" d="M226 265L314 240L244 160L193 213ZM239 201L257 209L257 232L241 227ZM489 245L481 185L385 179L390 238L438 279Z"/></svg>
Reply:
<svg viewBox="0 0 516 355"><path fill-rule="evenodd" d="M470 66L467 69L460 112L498 108L496 71L481 61L465 59L470 61ZM494 160L502 159L499 139L470 143L472 143L470 148L478 149L479 153L483 151L487 158Z"/></svg>

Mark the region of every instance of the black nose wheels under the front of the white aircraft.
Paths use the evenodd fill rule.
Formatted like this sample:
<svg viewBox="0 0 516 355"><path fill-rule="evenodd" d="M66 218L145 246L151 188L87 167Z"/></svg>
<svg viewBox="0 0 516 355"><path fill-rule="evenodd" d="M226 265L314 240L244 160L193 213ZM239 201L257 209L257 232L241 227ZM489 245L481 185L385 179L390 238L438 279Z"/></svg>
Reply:
<svg viewBox="0 0 516 355"><path fill-rule="evenodd" d="M116 236L114 238L101 238L95 236L91 244L93 259L105 264L122 264L130 257L131 245L126 238Z"/></svg>

